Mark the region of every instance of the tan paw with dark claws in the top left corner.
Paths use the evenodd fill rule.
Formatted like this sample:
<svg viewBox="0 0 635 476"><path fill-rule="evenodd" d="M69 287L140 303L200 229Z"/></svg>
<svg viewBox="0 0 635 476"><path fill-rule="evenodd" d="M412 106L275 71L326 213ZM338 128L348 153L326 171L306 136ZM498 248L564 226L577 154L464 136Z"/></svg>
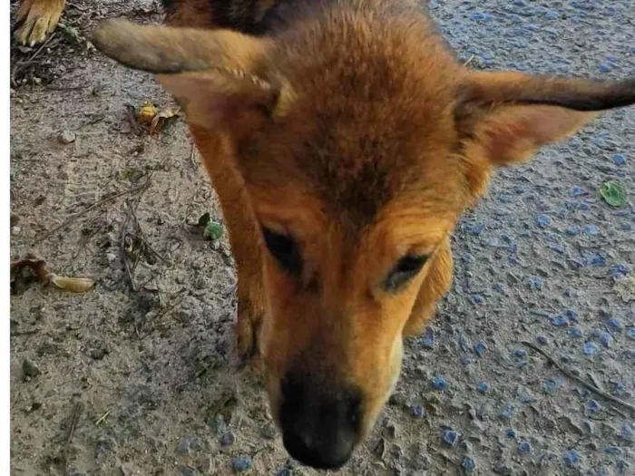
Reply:
<svg viewBox="0 0 635 476"><path fill-rule="evenodd" d="M22 0L15 14L20 24L15 32L17 43L29 46L43 43L60 21L64 2L65 0Z"/></svg>

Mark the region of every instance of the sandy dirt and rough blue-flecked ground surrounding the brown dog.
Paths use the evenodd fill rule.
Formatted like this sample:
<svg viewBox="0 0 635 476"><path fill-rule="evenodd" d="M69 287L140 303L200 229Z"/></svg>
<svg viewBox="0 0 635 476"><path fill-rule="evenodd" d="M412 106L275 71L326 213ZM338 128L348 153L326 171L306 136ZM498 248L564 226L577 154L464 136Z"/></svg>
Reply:
<svg viewBox="0 0 635 476"><path fill-rule="evenodd" d="M476 68L635 75L633 0L430 7ZM86 43L122 15L162 17L151 0L73 0L44 48L12 51L12 259L96 281L12 286L12 474L317 474L233 368L233 261L196 226L222 217L182 120L131 121L170 98ZM635 404L633 144L635 108L611 112L496 177L456 230L452 292L338 474L635 473L635 414L614 400ZM630 192L620 207L608 180Z"/></svg>

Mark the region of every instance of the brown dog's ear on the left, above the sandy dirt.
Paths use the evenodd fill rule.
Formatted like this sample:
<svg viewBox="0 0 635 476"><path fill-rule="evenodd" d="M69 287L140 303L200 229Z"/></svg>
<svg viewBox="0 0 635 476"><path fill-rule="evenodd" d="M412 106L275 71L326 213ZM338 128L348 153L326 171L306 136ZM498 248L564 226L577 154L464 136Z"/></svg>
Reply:
<svg viewBox="0 0 635 476"><path fill-rule="evenodd" d="M119 63L155 73L190 125L236 135L280 106L284 81L268 61L272 44L266 39L108 20L94 32L93 44Z"/></svg>

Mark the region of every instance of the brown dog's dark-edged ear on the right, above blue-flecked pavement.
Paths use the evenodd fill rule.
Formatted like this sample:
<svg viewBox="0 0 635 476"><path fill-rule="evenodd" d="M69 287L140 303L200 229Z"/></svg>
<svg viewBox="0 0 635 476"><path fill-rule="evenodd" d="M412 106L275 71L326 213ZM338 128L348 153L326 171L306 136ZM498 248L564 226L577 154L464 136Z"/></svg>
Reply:
<svg viewBox="0 0 635 476"><path fill-rule="evenodd" d="M455 110L465 154L509 165L562 141L601 111L635 102L635 79L586 81L522 73L467 73Z"/></svg>

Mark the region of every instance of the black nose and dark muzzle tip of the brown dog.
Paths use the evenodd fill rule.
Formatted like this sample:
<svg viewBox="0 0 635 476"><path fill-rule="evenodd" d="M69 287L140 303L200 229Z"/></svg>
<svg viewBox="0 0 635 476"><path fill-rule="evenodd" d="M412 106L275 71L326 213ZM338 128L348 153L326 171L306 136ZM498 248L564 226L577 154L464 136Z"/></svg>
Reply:
<svg viewBox="0 0 635 476"><path fill-rule="evenodd" d="M359 392L337 390L288 375L282 384L280 426L288 453L317 469L337 469L349 459L360 431ZM322 380L322 379L320 379Z"/></svg>

